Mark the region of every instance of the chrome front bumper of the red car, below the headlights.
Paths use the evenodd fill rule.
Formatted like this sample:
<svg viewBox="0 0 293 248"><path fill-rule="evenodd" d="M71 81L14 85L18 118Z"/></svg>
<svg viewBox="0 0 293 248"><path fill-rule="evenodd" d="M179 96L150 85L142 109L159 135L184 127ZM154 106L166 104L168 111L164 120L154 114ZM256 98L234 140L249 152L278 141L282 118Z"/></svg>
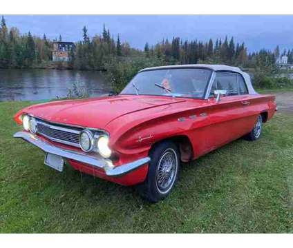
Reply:
<svg viewBox="0 0 293 248"><path fill-rule="evenodd" d="M70 149L56 147L55 145L51 145L50 143L39 138L38 136L30 134L29 132L17 132L13 136L15 138L22 138L24 141L28 141L32 145L35 145L42 149L44 152L59 155L63 158L70 158L75 161L104 169L107 176L122 176L123 174L131 172L133 169L137 169L138 167L151 161L151 158L145 157L131 163L125 163L124 165L115 166L109 159L99 156L91 156L89 154L86 154L85 152L77 152Z"/></svg>

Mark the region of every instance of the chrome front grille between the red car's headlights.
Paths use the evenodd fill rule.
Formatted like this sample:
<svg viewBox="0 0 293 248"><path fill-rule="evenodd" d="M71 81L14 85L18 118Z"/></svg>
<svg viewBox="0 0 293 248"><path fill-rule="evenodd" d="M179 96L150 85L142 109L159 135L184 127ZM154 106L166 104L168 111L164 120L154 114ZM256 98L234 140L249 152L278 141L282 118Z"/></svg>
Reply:
<svg viewBox="0 0 293 248"><path fill-rule="evenodd" d="M62 127L59 125L46 123L37 120L37 132L51 141L64 143L66 145L73 145L79 147L79 132L81 130L70 127Z"/></svg>

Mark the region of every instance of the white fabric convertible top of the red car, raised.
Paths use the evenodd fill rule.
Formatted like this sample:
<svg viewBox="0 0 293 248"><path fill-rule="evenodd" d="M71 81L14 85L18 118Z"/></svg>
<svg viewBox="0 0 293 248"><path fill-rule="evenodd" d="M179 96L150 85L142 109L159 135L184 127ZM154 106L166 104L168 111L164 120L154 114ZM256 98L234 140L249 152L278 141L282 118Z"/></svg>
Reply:
<svg viewBox="0 0 293 248"><path fill-rule="evenodd" d="M249 94L257 94L254 90L254 87L252 87L252 81L250 79L249 74L246 72L243 72L240 70L240 68L235 66L229 66L229 65L208 65L208 64L193 64L193 65L165 65L165 66L157 66L153 68L144 68L140 70L140 72L145 72L149 70L164 70L164 69L180 69L180 68L207 68L213 71L222 71L222 72L237 72L243 76L245 79L245 83L247 85L247 89Z"/></svg>

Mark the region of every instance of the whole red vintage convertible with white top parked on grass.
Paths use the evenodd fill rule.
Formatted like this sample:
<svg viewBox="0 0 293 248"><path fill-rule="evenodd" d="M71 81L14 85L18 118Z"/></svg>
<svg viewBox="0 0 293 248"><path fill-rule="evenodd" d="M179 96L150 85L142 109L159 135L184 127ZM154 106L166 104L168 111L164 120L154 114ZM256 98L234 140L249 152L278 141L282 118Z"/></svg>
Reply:
<svg viewBox="0 0 293 248"><path fill-rule="evenodd" d="M121 185L155 202L178 178L180 161L236 138L254 141L276 111L274 96L254 91L249 75L227 65L147 68L115 96L54 101L15 114L16 138L45 152L44 163ZM33 155L32 155L33 156Z"/></svg>

